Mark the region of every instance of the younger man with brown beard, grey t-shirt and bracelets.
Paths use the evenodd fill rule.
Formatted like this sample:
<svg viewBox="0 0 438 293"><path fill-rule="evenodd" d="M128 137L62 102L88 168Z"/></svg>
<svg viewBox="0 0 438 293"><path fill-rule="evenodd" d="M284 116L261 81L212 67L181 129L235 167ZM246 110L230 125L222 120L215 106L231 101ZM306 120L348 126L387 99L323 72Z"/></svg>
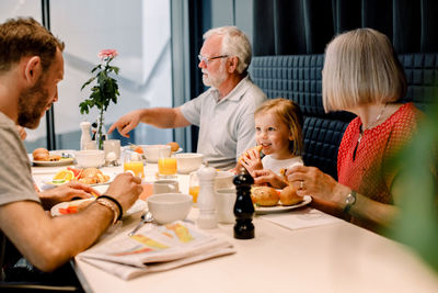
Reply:
<svg viewBox="0 0 438 293"><path fill-rule="evenodd" d="M11 19L0 24L1 277L3 268L9 267L2 263L4 236L33 266L53 271L95 243L142 190L140 178L123 173L105 195L80 213L51 217L45 212L44 207L49 210L61 201L91 198L94 191L81 183L68 183L37 194L19 136L18 125L36 128L46 110L58 101L64 47L34 19Z"/></svg>

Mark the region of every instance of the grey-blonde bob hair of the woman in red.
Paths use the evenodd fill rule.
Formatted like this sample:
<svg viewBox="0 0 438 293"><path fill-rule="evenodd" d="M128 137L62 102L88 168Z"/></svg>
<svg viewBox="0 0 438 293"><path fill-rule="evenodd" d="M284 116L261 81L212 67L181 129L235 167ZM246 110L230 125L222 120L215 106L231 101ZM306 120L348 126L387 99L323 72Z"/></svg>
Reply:
<svg viewBox="0 0 438 293"><path fill-rule="evenodd" d="M325 50L325 112L390 103L406 93L406 77L391 42L372 29L337 35Z"/></svg>

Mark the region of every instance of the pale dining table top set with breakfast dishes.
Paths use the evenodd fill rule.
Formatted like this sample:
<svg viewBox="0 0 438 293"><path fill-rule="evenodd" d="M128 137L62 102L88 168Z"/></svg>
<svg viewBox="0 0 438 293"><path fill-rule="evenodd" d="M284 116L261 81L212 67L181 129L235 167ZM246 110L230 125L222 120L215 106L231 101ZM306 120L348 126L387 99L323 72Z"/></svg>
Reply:
<svg viewBox="0 0 438 293"><path fill-rule="evenodd" d="M67 166L68 167L68 166ZM74 167L74 166L72 166ZM32 167L35 182L66 168ZM123 166L102 167L111 177ZM145 181L157 179L158 166L147 162ZM188 194L188 174L177 173L182 193ZM107 185L100 185L104 192ZM126 217L104 234L99 244L128 233L141 213ZM195 223L193 206L187 221ZM308 206L255 214L255 237L235 239L233 224L204 229L231 244L235 253L161 272L120 279L80 257L71 260L85 292L438 292L438 273L413 249L346 221Z"/></svg>

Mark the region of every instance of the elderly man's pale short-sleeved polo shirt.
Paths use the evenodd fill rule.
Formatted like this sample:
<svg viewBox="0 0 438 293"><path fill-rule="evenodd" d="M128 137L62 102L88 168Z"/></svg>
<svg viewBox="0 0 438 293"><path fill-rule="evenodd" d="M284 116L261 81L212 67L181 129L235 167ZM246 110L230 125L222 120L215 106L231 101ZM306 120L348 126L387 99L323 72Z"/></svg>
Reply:
<svg viewBox="0 0 438 293"><path fill-rule="evenodd" d="M249 76L222 100L208 89L181 106L184 117L199 126L197 153L209 166L232 168L237 158L255 145L254 111L267 99Z"/></svg>

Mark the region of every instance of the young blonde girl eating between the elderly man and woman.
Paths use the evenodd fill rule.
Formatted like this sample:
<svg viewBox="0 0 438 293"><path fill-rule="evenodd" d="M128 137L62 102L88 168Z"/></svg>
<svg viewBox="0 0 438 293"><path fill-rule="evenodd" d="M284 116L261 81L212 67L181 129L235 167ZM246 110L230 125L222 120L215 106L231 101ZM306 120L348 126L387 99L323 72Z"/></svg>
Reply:
<svg viewBox="0 0 438 293"><path fill-rule="evenodd" d="M287 183L281 173L285 169L303 165L302 113L298 104L286 99L273 99L263 103L254 113L255 140L262 146L261 154L254 148L241 158L241 165L254 177L257 184L269 183L284 188Z"/></svg>

